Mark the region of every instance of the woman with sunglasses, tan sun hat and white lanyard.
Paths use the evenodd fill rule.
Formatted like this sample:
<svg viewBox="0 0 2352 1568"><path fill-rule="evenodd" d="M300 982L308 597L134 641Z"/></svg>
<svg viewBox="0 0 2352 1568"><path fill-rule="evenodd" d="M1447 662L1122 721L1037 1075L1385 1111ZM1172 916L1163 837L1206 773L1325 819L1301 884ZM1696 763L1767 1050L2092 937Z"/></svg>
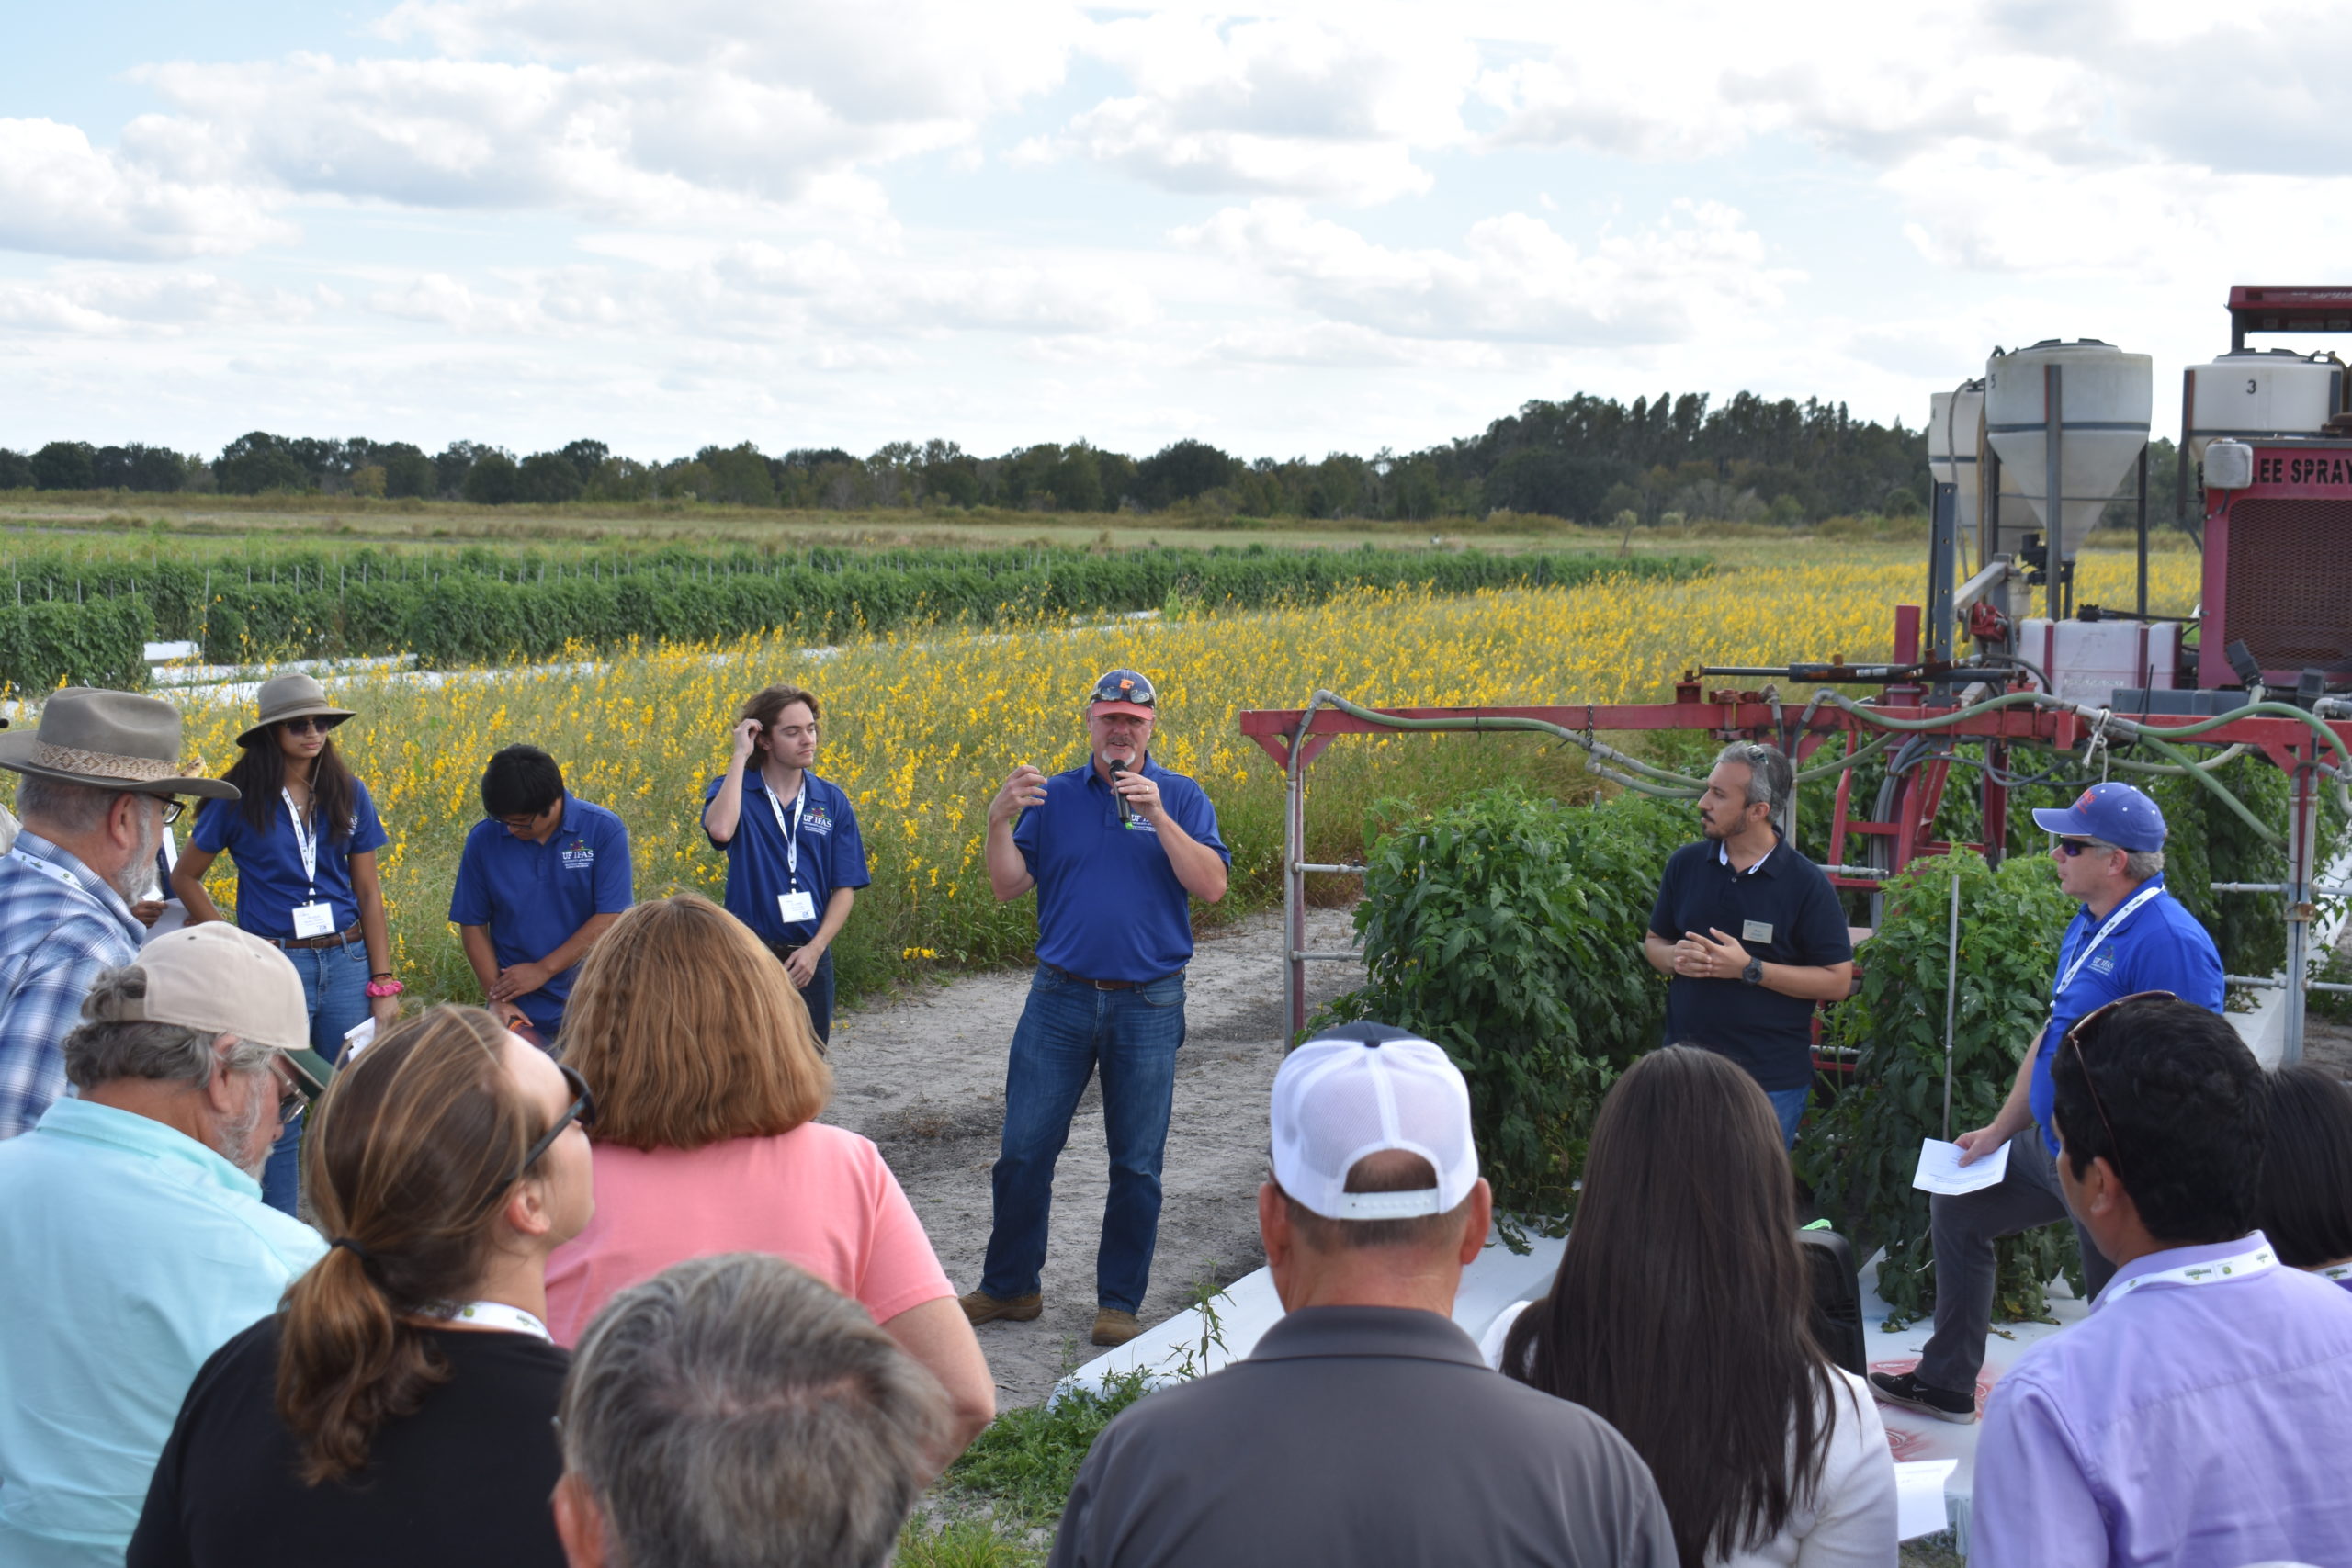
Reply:
<svg viewBox="0 0 2352 1568"><path fill-rule="evenodd" d="M172 867L172 893L188 924L221 919L205 872L226 849L238 863L238 926L278 945L301 973L310 1006L310 1048L329 1063L343 1034L369 1016L400 1016L383 922L376 851L388 842L367 785L336 755L327 731L353 717L308 675L261 686L261 717L238 736L245 755L228 769L240 799L195 813L195 835ZM301 1124L287 1128L261 1178L261 1197L294 1213Z"/></svg>

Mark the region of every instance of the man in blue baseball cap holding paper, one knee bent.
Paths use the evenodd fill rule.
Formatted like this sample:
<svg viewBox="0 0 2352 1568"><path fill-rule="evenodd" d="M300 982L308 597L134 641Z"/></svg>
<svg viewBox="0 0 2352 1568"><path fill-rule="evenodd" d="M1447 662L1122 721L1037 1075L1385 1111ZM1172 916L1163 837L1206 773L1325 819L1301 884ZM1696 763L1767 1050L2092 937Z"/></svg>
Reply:
<svg viewBox="0 0 2352 1568"><path fill-rule="evenodd" d="M2091 785L2072 806L2037 809L2056 835L2058 886L2082 900L2058 943L2051 1020L2018 1063L2009 1100L1990 1126L1962 1133L1962 1164L2009 1145L1992 1187L1929 1199L1936 1244L1936 1333L1910 1373L1870 1373L1879 1399L1950 1422L1976 1420L1976 1373L1992 1328L1992 1244L2072 1218L2058 1192L2051 1126L2051 1058L2067 1030L2138 992L2169 992L2213 1013L2223 1004L2220 952L2197 917L2164 891L2164 813L2126 783ZM2084 1276L2096 1295L2114 1274L2074 1222Z"/></svg>

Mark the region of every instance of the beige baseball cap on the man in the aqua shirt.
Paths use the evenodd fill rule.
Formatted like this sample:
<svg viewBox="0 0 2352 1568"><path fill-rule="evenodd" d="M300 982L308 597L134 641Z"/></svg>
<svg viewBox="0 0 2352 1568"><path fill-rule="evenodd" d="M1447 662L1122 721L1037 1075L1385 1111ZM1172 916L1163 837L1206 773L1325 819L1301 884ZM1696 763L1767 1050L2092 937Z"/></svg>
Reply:
<svg viewBox="0 0 2352 1568"><path fill-rule="evenodd" d="M313 1100L334 1081L334 1067L310 1048L301 976L259 936L207 919L165 931L134 961L146 971L146 997L103 1009L103 1023L176 1023L273 1046Z"/></svg>

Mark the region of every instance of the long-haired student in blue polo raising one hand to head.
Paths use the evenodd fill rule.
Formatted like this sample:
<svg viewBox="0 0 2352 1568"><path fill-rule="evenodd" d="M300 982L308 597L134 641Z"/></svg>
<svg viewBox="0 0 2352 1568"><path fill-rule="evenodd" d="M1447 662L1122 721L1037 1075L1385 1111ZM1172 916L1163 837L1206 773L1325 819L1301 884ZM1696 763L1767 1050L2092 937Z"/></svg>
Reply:
<svg viewBox="0 0 2352 1568"><path fill-rule="evenodd" d="M743 703L727 771L703 790L703 832L727 856L727 912L753 929L833 1039L833 938L866 875L858 813L818 778L814 691L769 686Z"/></svg>

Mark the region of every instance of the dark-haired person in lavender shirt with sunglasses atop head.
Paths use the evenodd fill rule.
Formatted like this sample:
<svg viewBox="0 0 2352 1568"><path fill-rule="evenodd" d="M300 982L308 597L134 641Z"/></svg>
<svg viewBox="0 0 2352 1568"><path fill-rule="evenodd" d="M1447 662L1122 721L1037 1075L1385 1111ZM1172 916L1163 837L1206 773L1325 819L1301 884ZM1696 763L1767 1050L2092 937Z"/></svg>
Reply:
<svg viewBox="0 0 2352 1568"><path fill-rule="evenodd" d="M2114 1276L1992 1387L1971 1566L2352 1563L2352 1298L2253 1227L2263 1070L2147 994L2084 1016L2051 1081L2058 1182Z"/></svg>

